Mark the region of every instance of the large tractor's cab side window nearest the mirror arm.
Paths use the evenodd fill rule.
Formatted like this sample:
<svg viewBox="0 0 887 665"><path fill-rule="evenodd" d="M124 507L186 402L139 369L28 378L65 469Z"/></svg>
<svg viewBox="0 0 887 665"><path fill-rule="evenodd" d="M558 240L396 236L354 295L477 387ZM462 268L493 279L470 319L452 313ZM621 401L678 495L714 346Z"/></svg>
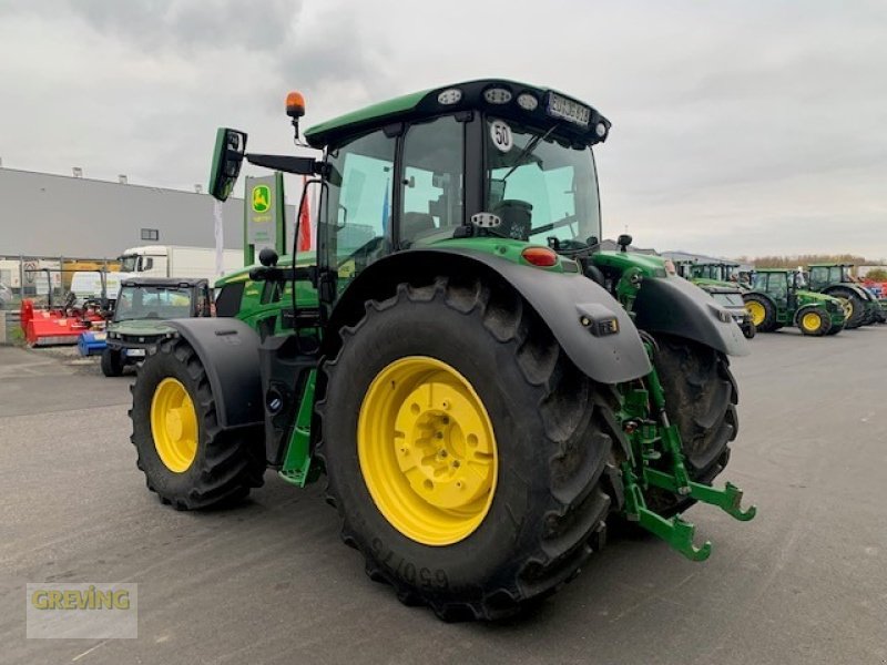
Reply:
<svg viewBox="0 0 887 665"><path fill-rule="evenodd" d="M395 145L378 131L330 154L324 233L340 287L389 253Z"/></svg>

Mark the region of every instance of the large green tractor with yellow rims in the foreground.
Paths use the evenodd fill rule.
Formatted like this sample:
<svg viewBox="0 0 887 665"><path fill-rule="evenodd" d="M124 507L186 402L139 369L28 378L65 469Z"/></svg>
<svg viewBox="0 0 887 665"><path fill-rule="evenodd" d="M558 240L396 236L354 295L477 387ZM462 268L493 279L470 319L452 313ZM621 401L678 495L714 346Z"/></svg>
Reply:
<svg viewBox="0 0 887 665"><path fill-rule="evenodd" d="M287 112L298 141L300 95ZM504 80L317 125L318 160L245 154L221 129L211 193L228 196L244 158L314 176L317 249L263 249L218 283L218 318L170 321L133 387L149 489L191 510L268 468L297 487L323 473L368 575L445 620L554 592L612 521L706 559L681 511L755 514L712 487L737 431L727 356L747 346L628 236L598 252L591 149L609 131Z"/></svg>

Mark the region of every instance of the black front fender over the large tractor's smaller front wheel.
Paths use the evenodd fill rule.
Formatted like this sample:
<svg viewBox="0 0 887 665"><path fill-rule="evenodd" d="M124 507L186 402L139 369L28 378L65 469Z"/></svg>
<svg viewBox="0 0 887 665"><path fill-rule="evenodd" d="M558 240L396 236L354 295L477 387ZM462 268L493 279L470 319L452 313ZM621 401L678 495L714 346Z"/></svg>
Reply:
<svg viewBox="0 0 887 665"><path fill-rule="evenodd" d="M256 331L236 318L173 319L166 324L192 346L206 370L218 426L263 424Z"/></svg>

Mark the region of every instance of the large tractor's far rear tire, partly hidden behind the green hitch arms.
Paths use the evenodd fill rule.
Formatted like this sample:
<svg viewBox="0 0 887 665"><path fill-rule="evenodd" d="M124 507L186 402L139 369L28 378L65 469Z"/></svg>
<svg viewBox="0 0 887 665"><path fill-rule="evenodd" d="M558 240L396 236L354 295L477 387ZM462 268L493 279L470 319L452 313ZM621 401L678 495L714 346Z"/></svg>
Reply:
<svg viewBox="0 0 887 665"><path fill-rule="evenodd" d="M665 391L665 412L677 426L684 464L691 480L711 484L730 461L730 442L738 433L738 390L730 360L715 349L689 339L659 335L654 365ZM695 503L651 488L648 504L670 516Z"/></svg>

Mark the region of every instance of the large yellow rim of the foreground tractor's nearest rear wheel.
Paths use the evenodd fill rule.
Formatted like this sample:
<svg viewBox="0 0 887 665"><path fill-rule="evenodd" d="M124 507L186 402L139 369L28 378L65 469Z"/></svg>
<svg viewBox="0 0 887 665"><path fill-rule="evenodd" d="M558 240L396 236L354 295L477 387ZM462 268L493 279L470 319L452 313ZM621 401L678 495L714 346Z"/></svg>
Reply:
<svg viewBox="0 0 887 665"><path fill-rule="evenodd" d="M425 545L468 538L496 493L490 417L468 379L435 358L400 358L376 376L360 406L357 457L379 512Z"/></svg>

